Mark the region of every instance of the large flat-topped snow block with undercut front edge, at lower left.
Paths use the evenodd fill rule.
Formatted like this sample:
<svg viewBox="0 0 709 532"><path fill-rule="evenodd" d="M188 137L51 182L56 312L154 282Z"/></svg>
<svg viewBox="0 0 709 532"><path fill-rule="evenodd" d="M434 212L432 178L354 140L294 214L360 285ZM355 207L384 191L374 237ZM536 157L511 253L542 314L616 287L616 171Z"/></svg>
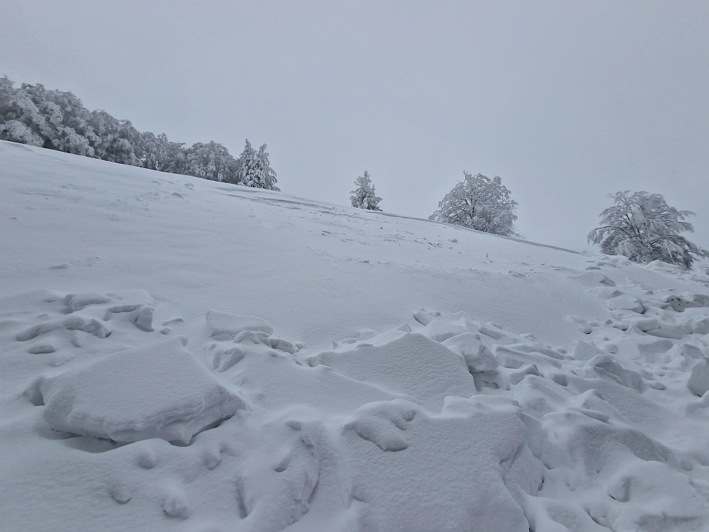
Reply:
<svg viewBox="0 0 709 532"><path fill-rule="evenodd" d="M191 438L247 408L177 337L114 353L42 387L45 421L59 431L119 442Z"/></svg>

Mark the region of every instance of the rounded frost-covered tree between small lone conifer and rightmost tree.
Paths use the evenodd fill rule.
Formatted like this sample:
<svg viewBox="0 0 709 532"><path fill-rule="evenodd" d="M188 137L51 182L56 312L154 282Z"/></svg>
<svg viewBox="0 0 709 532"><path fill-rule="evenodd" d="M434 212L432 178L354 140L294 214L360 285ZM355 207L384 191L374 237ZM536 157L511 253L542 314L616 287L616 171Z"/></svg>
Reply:
<svg viewBox="0 0 709 532"><path fill-rule="evenodd" d="M438 210L430 220L469 227L495 235L521 235L515 228L517 201L510 199L510 191L500 177L492 179L483 174L463 172L463 180L438 203Z"/></svg>

